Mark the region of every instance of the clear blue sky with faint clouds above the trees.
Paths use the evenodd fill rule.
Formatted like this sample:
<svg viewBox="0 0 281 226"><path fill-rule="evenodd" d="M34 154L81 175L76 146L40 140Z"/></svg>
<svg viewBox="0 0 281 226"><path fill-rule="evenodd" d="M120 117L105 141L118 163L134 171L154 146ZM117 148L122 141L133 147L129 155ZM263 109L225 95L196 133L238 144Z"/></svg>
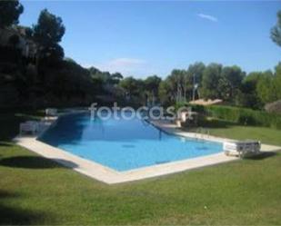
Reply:
<svg viewBox="0 0 281 226"><path fill-rule="evenodd" d="M270 39L281 1L21 1L21 25L44 8L66 31L65 56L85 67L144 78L189 64L274 69L281 48Z"/></svg>

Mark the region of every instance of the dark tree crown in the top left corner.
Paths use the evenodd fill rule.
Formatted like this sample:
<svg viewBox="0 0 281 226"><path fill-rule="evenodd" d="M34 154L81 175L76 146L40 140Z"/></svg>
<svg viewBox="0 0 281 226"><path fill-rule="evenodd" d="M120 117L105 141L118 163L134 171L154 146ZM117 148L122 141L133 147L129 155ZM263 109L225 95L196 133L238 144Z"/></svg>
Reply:
<svg viewBox="0 0 281 226"><path fill-rule="evenodd" d="M17 25L19 16L24 12L24 6L18 0L0 1L0 28Z"/></svg>

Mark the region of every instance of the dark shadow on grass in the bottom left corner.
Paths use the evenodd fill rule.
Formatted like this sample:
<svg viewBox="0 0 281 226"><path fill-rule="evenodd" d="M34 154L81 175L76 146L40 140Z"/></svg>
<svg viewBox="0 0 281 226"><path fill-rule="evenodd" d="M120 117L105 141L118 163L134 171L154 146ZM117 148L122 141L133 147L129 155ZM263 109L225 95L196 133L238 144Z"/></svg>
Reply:
<svg viewBox="0 0 281 226"><path fill-rule="evenodd" d="M39 224L45 218L45 212L30 211L5 204L8 199L16 199L20 196L0 190L0 225Z"/></svg>

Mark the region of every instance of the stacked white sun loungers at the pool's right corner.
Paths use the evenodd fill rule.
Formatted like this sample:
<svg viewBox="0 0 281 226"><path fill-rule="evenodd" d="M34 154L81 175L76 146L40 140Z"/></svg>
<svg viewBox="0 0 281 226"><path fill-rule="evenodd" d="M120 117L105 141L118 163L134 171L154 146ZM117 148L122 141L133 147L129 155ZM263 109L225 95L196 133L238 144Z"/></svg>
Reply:
<svg viewBox="0 0 281 226"><path fill-rule="evenodd" d="M224 142L224 152L226 155L248 157L260 153L261 142Z"/></svg>

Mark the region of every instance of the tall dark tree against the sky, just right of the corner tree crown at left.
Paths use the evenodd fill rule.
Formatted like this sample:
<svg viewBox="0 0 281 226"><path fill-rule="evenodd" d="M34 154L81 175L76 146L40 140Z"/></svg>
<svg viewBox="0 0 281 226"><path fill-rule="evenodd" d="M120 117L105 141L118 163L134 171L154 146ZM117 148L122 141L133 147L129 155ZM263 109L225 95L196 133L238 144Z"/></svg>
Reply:
<svg viewBox="0 0 281 226"><path fill-rule="evenodd" d="M37 25L34 25L35 42L39 44L38 58L62 59L64 50L59 45L65 34L65 25L60 17L41 11Z"/></svg>

